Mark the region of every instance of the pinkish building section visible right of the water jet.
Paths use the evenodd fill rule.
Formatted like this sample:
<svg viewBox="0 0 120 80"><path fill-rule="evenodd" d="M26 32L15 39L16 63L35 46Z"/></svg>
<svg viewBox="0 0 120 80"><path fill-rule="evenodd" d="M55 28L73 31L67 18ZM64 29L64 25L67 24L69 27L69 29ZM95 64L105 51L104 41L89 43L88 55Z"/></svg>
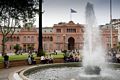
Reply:
<svg viewBox="0 0 120 80"><path fill-rule="evenodd" d="M107 49L111 48L111 28L109 27L109 24L102 25L101 33L102 33L102 41ZM118 43L118 30L113 28L112 29L112 45L113 48L117 46Z"/></svg>

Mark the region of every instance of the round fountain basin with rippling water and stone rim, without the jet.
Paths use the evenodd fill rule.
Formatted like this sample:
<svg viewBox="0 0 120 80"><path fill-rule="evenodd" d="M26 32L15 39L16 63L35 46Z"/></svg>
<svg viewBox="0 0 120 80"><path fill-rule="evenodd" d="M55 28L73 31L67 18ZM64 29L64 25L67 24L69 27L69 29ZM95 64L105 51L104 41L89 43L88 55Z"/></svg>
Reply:
<svg viewBox="0 0 120 80"><path fill-rule="evenodd" d="M84 73L81 63L37 65L20 72L23 80L119 80L120 64L109 64L111 70L101 70L99 75Z"/></svg>

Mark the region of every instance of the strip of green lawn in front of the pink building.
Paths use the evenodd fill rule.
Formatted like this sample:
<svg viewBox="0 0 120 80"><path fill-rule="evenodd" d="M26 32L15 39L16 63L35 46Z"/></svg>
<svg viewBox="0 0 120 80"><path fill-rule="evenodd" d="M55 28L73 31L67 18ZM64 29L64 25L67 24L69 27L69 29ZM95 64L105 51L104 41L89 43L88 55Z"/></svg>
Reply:
<svg viewBox="0 0 120 80"><path fill-rule="evenodd" d="M36 58L36 55L33 55ZM53 58L63 58L63 53L58 53L57 55L53 54ZM23 54L23 55L11 55L9 56L10 61L14 60L26 60L28 58L28 54ZM3 62L3 57L0 56L0 63Z"/></svg>

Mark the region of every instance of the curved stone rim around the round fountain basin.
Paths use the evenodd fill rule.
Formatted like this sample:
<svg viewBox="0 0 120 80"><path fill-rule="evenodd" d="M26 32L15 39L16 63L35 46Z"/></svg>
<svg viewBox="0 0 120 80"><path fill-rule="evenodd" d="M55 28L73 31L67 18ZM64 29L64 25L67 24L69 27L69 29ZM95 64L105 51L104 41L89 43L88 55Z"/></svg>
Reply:
<svg viewBox="0 0 120 80"><path fill-rule="evenodd" d="M25 73L27 73L28 71L30 71L32 69L40 69L40 68L47 69L47 68L51 68L51 67L57 67L58 65L61 65L62 67L64 67L64 66L70 67L71 64L74 64L71 67L74 67L74 66L76 66L76 67L80 66L81 67L81 62L42 64L42 65L40 64L40 65L35 65L35 66L32 66L32 67L29 67L29 68L26 68L26 69L22 70L21 72L19 72L19 76L20 76L20 78L22 78L22 80L31 80L31 79L29 79L25 76ZM120 68L120 63L108 63L108 64L112 65L113 67L117 66L115 68Z"/></svg>

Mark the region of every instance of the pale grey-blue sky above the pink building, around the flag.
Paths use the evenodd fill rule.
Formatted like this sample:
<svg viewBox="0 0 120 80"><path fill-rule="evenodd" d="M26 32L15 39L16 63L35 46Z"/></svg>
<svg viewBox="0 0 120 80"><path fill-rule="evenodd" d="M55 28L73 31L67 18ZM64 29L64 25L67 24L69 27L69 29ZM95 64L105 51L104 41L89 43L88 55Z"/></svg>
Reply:
<svg viewBox="0 0 120 80"><path fill-rule="evenodd" d="M110 21L110 0L44 0L42 4L43 27L52 27L59 22L70 21L70 9L77 13L72 14L75 23L85 24L85 6L90 2L94 6L98 25L109 23ZM112 17L120 18L120 0L112 0ZM38 20L36 23L38 25Z"/></svg>

